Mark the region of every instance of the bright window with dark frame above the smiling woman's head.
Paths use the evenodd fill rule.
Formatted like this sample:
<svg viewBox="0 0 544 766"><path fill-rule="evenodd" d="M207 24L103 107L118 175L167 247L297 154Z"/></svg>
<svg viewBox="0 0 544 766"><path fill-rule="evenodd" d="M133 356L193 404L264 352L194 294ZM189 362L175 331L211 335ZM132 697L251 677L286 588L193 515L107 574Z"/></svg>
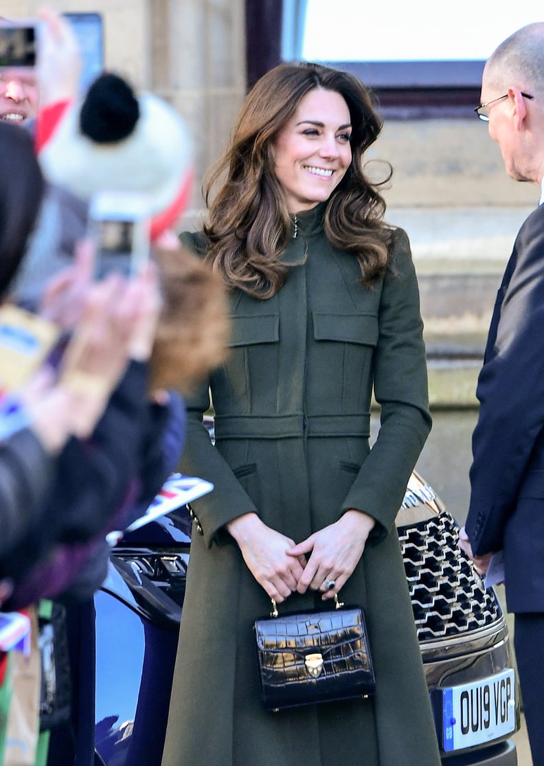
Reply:
<svg viewBox="0 0 544 766"><path fill-rule="evenodd" d="M487 57L542 14L536 0L508 13L474 0L247 0L246 10L249 85L280 61L320 61L357 74L388 117L414 118L470 116Z"/></svg>

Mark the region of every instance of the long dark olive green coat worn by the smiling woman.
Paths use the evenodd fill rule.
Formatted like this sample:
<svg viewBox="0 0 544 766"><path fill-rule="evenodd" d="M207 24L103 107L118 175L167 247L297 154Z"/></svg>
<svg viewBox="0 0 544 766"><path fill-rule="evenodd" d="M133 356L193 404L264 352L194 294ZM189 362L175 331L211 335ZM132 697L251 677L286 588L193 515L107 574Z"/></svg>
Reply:
<svg viewBox="0 0 544 766"><path fill-rule="evenodd" d="M307 247L307 259L277 295L231 297L231 355L209 381L215 447L200 423L208 385L188 403L181 468L215 490L193 504L163 766L440 764L394 526L431 425L408 238L395 231L392 270L367 290L322 215L298 217L285 258ZM184 241L202 251L202 238ZM369 450L372 385L382 427ZM299 542L349 508L377 522L341 594L366 613L375 699L264 712L252 625L270 601L222 528L254 511ZM284 608L320 605L293 594Z"/></svg>

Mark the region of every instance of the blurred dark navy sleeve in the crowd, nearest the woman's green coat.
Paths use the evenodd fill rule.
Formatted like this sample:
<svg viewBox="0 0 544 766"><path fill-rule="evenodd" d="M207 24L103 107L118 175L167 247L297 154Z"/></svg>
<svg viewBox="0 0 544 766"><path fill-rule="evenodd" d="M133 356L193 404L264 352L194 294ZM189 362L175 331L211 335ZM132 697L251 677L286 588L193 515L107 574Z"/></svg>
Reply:
<svg viewBox="0 0 544 766"><path fill-rule="evenodd" d="M160 447L149 441L147 373L143 362L130 362L90 439L71 437L56 456L31 528L0 558L0 576L20 581L53 545L103 535L113 514L136 502L149 450ZM154 417L153 438L160 440L167 413Z"/></svg>

